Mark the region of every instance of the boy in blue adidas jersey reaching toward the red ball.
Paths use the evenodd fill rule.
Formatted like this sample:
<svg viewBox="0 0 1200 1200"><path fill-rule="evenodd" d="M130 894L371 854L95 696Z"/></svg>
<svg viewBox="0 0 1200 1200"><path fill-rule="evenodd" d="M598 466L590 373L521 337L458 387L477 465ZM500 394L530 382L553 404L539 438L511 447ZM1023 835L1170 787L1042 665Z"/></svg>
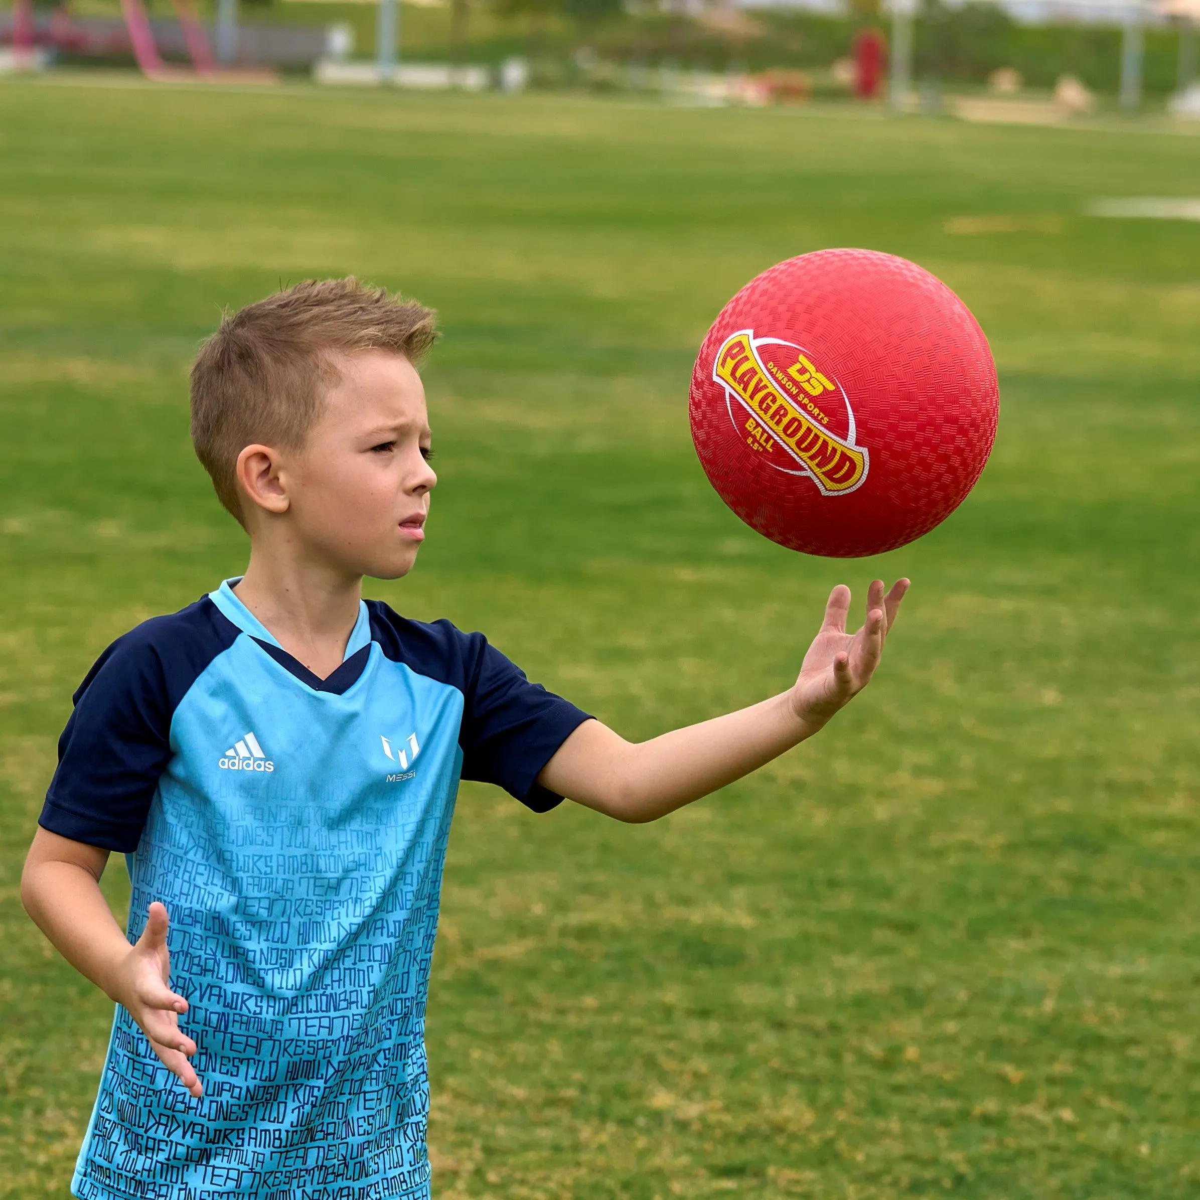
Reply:
<svg viewBox="0 0 1200 1200"><path fill-rule="evenodd" d="M414 364L433 337L430 310L335 280L227 318L196 361L193 442L250 564L101 655L22 877L116 1002L84 1200L427 1196L425 998L458 779L653 821L816 733L880 661L904 580L871 584L853 636L835 588L790 691L634 745L482 635L364 601L362 577L406 575L425 538ZM127 937L97 887L113 851Z"/></svg>

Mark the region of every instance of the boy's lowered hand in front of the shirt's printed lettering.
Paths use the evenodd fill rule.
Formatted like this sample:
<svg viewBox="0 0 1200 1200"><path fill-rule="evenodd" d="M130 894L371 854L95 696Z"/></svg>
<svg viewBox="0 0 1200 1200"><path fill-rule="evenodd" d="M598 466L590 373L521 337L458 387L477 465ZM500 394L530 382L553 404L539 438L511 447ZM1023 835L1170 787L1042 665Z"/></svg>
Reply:
<svg viewBox="0 0 1200 1200"><path fill-rule="evenodd" d="M166 905L154 901L137 944L115 966L110 994L138 1022L150 1049L167 1070L178 1075L184 1087L199 1099L204 1088L187 1061L196 1054L196 1043L179 1028L187 1001L167 986L170 979L168 924Z"/></svg>

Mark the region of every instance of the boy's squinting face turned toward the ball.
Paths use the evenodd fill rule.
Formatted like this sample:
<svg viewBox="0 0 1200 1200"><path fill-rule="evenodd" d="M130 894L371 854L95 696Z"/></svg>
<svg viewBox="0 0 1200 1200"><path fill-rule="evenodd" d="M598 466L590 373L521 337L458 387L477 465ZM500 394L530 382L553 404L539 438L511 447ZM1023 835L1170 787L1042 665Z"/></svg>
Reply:
<svg viewBox="0 0 1200 1200"><path fill-rule="evenodd" d="M292 458L288 512L312 557L353 575L407 575L425 540L430 422L412 362L386 350L342 358L341 382Z"/></svg>

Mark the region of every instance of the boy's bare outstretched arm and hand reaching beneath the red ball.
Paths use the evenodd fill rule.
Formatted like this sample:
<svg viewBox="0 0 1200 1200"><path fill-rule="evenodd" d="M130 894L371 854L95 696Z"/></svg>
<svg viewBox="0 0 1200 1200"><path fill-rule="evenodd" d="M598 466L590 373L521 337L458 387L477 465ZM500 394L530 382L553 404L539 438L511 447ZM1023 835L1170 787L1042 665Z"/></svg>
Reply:
<svg viewBox="0 0 1200 1200"><path fill-rule="evenodd" d="M900 580L884 595L876 580L866 594L866 624L847 634L850 588L839 584L788 691L638 744L599 721L584 721L538 781L630 822L654 821L715 792L811 737L871 682L907 590L908 581Z"/></svg>

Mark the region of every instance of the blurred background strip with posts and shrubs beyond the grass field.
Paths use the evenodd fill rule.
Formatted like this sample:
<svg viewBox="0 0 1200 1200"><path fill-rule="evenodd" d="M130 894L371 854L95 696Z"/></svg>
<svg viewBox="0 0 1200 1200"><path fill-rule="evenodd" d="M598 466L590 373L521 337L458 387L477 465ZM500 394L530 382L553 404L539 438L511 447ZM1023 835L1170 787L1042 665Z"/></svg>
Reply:
<svg viewBox="0 0 1200 1200"><path fill-rule="evenodd" d="M1200 118L1198 19L1200 0L13 0L0 70Z"/></svg>

